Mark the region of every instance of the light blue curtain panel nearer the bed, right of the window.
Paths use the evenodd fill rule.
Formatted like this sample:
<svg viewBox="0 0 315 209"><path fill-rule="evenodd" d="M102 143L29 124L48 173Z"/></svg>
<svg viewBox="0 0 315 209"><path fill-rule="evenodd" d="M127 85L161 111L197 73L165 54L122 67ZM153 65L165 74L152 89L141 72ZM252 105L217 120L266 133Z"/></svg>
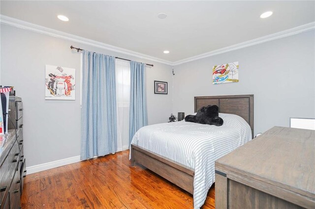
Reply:
<svg viewBox="0 0 315 209"><path fill-rule="evenodd" d="M148 125L145 69L145 63L130 61L129 144L135 132Z"/></svg>

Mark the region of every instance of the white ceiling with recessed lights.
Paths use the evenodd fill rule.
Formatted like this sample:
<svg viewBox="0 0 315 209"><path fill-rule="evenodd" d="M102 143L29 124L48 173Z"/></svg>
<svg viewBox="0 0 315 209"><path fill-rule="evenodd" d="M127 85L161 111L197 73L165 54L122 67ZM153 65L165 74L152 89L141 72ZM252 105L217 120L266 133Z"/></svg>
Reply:
<svg viewBox="0 0 315 209"><path fill-rule="evenodd" d="M5 16L170 62L315 21L315 1L301 0L1 0L0 7ZM261 19L268 10L274 14ZM161 12L166 19L158 18ZM69 21L57 19L59 14Z"/></svg>

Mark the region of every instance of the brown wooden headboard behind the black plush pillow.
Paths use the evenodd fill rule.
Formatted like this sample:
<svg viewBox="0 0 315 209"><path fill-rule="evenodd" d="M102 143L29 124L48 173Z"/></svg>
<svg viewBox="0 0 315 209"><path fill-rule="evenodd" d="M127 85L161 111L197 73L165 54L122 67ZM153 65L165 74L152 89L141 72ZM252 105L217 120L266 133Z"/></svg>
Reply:
<svg viewBox="0 0 315 209"><path fill-rule="evenodd" d="M254 132L254 95L204 96L194 98L194 112L200 107L218 105L219 112L239 115L250 125Z"/></svg>

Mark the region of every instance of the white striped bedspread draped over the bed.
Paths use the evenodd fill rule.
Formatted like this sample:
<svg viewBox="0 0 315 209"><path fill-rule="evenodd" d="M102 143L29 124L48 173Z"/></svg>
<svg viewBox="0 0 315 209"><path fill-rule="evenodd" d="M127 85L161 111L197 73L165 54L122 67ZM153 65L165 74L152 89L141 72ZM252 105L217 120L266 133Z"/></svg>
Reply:
<svg viewBox="0 0 315 209"><path fill-rule="evenodd" d="M219 113L221 127L185 121L142 127L132 138L151 152L194 169L193 205L199 209L215 181L215 160L252 139L248 123L237 115Z"/></svg>

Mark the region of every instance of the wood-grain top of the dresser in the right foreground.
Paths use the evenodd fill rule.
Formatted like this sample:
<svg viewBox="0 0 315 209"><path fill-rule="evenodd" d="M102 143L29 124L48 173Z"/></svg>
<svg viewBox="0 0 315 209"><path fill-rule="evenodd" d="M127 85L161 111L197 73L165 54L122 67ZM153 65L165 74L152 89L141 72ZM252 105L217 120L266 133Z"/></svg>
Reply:
<svg viewBox="0 0 315 209"><path fill-rule="evenodd" d="M216 170L230 180L314 209L315 131L274 127L218 159Z"/></svg>

